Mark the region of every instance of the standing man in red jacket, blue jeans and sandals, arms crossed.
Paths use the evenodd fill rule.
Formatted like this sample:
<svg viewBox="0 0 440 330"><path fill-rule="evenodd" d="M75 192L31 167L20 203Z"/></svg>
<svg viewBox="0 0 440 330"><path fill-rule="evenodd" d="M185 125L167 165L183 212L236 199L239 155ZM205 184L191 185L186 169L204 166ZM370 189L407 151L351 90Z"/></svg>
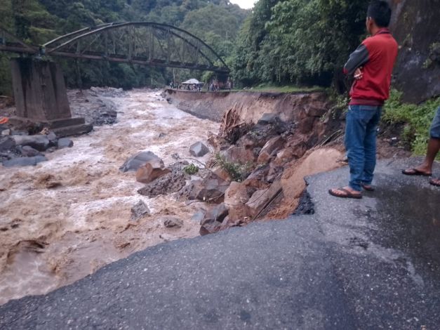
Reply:
<svg viewBox="0 0 440 330"><path fill-rule="evenodd" d="M382 105L389 97L398 48L387 29L390 19L391 8L387 1L371 1L366 18L371 37L349 56L344 67L345 74L354 74L355 79L345 127L350 180L347 187L328 191L335 197L359 199L362 189L373 190L377 126Z"/></svg>

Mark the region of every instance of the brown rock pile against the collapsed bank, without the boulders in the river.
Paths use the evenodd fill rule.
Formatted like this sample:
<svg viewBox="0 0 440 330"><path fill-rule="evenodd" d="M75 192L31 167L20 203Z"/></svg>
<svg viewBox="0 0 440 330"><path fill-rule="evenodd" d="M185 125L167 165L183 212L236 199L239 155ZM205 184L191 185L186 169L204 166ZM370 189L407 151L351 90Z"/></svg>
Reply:
<svg viewBox="0 0 440 330"><path fill-rule="evenodd" d="M220 134L211 136L210 141L217 146L229 169L237 168L231 164L250 164L251 171L245 173L243 180L234 181L231 176L220 178L215 174L219 169L214 167L213 173L194 183L189 198L211 203L194 215L200 221L201 235L249 223L284 197L281 178L285 169L324 140L329 131L334 131L333 120L339 119L334 116L319 120L325 110L306 110L300 120L288 123L277 114L264 114L256 124L243 124L231 114L225 114L225 120L239 124L222 125Z"/></svg>

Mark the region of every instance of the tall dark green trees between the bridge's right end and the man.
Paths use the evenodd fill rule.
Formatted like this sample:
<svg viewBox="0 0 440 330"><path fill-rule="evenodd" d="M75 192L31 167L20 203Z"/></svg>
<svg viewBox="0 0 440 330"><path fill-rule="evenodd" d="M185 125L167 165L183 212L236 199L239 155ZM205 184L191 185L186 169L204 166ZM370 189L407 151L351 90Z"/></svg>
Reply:
<svg viewBox="0 0 440 330"><path fill-rule="evenodd" d="M260 0L241 27L234 78L329 86L364 35L366 1Z"/></svg>

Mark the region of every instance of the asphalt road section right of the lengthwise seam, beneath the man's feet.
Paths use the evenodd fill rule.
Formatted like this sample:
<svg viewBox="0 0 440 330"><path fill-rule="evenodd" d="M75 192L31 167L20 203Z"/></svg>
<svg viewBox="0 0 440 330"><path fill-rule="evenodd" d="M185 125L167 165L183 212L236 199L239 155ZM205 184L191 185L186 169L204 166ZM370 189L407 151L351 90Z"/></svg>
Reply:
<svg viewBox="0 0 440 330"><path fill-rule="evenodd" d="M308 179L359 329L440 329L440 189L401 174L415 164L380 161L377 191L361 201L324 189L347 185L348 169Z"/></svg>

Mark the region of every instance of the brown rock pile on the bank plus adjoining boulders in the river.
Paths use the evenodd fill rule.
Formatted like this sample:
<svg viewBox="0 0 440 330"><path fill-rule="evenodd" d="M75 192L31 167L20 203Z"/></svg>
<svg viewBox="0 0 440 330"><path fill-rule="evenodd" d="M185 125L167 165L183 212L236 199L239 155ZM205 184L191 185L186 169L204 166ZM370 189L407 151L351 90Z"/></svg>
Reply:
<svg viewBox="0 0 440 330"><path fill-rule="evenodd" d="M338 121L338 115L321 118L325 113L307 107L298 121L264 114L255 124L243 123L227 113L218 136L208 138L216 152L207 169L189 175L184 171L185 161L166 167L152 152L140 152L128 159L121 171L136 171L136 180L146 184L138 190L140 194L154 197L178 192L180 198L200 202L192 220L201 225L201 235L244 225L265 215L272 204L284 198L286 169L335 130L332 120ZM204 157L208 152L201 142L189 147L193 157Z"/></svg>

